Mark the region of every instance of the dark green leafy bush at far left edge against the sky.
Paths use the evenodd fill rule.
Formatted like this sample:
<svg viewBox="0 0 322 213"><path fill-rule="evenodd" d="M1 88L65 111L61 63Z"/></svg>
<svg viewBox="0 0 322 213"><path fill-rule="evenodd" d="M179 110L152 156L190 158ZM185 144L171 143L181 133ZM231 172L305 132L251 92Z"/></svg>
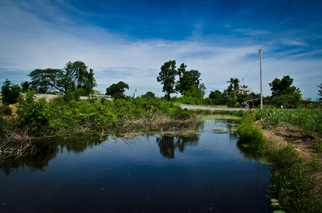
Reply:
<svg viewBox="0 0 322 213"><path fill-rule="evenodd" d="M18 84L12 84L8 79L1 87L1 101L3 105L17 103L21 97L21 88Z"/></svg>

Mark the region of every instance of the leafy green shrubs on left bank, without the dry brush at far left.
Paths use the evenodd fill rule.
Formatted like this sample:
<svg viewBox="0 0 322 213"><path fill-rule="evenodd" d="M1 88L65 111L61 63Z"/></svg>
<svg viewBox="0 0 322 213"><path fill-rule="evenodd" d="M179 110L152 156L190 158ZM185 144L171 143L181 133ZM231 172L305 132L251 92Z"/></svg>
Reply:
<svg viewBox="0 0 322 213"><path fill-rule="evenodd" d="M25 128L30 135L59 135L84 128L116 127L141 118L144 118L141 122L155 124L188 122L196 118L187 109L157 99L118 99L112 102L63 96L47 102L44 98L35 100L33 95L27 92L12 120L13 128Z"/></svg>

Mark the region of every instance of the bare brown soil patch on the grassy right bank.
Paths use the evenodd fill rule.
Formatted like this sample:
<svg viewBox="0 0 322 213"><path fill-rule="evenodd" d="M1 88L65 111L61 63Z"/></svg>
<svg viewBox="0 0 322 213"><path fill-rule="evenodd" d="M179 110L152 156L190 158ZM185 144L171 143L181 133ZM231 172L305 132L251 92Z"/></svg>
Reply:
<svg viewBox="0 0 322 213"><path fill-rule="evenodd" d="M260 125L260 121L255 123ZM317 156L317 162L322 164L322 153L314 152L309 145L316 141L322 141L321 137L317 134L306 136L302 129L296 127L278 126L275 129L262 129L264 136L267 138L269 144L282 144L291 142L294 148L298 151L299 156L302 158L304 164L312 163L312 155ZM322 188L322 168L314 171L313 177L317 178L318 188Z"/></svg>

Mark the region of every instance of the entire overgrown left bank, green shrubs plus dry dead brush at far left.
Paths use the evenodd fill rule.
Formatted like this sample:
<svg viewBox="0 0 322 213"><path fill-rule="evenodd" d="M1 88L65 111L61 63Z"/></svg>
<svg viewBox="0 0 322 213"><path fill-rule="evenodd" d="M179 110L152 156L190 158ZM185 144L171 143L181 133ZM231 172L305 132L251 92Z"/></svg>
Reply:
<svg viewBox="0 0 322 213"><path fill-rule="evenodd" d="M80 100L79 94L75 90L48 102L45 98L36 99L36 92L27 90L14 104L15 111L2 105L0 157L32 150L29 142L37 137L86 133L98 127L103 132L116 128L131 131L143 126L197 121L190 111L158 99L138 97L109 101L92 97ZM186 130L191 132L191 129Z"/></svg>

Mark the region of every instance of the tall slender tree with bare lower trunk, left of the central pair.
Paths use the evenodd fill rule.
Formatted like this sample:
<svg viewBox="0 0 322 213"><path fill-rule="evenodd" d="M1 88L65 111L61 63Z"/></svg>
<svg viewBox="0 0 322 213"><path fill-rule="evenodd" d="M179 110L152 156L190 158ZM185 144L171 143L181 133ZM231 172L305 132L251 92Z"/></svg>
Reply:
<svg viewBox="0 0 322 213"><path fill-rule="evenodd" d="M166 93L167 100L170 101L170 94L175 92L175 75L178 75L178 71L175 69L175 60L169 60L161 66L159 76L156 77L158 82L163 84L162 92Z"/></svg>

